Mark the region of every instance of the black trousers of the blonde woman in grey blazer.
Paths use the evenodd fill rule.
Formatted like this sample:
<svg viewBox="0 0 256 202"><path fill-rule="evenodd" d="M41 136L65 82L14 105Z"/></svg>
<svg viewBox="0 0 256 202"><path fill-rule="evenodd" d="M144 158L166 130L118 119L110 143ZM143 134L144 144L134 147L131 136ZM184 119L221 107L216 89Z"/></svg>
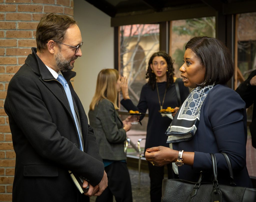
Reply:
<svg viewBox="0 0 256 202"><path fill-rule="evenodd" d="M105 167L108 187L96 198L96 202L132 202L132 185L126 163L114 162Z"/></svg>

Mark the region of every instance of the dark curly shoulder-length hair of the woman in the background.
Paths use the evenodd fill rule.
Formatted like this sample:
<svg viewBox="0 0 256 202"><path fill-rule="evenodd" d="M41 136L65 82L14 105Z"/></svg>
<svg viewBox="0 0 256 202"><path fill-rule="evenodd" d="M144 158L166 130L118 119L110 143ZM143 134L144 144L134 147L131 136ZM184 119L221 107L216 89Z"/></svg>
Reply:
<svg viewBox="0 0 256 202"><path fill-rule="evenodd" d="M146 73L146 79L148 78L148 84L151 85L152 90L155 89L155 85L156 85L156 75L155 73L152 72L152 69L150 67L150 65L153 62L153 59L156 56L161 56L165 59L166 63L167 63L167 72L166 72L166 76L167 76L167 83L166 83L166 87L168 88L170 86L170 84L172 84L174 82L174 67L173 67L173 60L171 58L171 56L169 56L165 51L158 51L156 53L153 53L153 55L150 57L149 61L148 61L148 67L147 67L147 73Z"/></svg>

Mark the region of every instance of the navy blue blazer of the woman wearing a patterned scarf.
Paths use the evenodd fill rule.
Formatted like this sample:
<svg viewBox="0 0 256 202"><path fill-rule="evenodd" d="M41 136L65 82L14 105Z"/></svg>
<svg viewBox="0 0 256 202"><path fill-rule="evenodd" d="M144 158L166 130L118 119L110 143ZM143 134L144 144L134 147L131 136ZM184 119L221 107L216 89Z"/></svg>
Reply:
<svg viewBox="0 0 256 202"><path fill-rule="evenodd" d="M218 182L230 184L228 166L220 152L226 152L232 163L237 186L252 187L246 167L247 118L246 106L239 94L226 85L216 85L202 104L200 121L193 139L174 143L174 150L195 152L194 165L178 167L179 178L196 182L200 171L208 172L210 181L212 162L216 155Z"/></svg>

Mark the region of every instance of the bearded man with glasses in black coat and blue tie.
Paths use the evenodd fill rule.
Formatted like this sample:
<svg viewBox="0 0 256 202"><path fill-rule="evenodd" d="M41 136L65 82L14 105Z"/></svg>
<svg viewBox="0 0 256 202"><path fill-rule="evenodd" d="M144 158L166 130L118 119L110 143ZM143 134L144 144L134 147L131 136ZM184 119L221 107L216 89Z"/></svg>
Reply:
<svg viewBox="0 0 256 202"><path fill-rule="evenodd" d="M89 201L107 186L93 129L70 79L83 44L77 22L42 17L37 48L13 76L5 100L16 153L13 201ZM80 194L69 173L83 180ZM86 196L87 195L87 196Z"/></svg>

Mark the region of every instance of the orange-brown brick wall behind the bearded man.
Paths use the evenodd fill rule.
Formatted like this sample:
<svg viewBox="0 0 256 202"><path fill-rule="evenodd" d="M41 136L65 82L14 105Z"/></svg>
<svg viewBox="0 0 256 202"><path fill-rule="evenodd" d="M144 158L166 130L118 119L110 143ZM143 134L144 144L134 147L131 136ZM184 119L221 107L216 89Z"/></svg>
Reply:
<svg viewBox="0 0 256 202"><path fill-rule="evenodd" d="M44 13L73 16L72 0L0 0L0 201L12 201L15 152L4 101L8 83L36 47L36 27Z"/></svg>

